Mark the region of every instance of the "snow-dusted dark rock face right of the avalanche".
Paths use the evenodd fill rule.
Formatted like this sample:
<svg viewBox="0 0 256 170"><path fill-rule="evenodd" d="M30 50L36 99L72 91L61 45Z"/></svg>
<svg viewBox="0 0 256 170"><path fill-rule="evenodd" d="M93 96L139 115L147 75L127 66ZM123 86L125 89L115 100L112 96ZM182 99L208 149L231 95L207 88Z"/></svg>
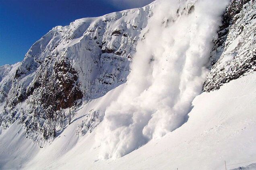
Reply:
<svg viewBox="0 0 256 170"><path fill-rule="evenodd" d="M256 71L256 3L232 0L223 14L223 26L211 55L211 72L204 91Z"/></svg>

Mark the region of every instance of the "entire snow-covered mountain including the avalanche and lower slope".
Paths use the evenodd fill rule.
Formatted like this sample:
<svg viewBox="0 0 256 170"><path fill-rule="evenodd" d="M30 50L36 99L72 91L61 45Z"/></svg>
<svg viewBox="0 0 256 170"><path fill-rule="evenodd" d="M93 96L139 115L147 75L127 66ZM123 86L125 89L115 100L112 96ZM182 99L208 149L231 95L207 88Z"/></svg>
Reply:
<svg viewBox="0 0 256 170"><path fill-rule="evenodd" d="M0 67L0 169L255 163L254 71L254 0L157 0L56 26Z"/></svg>

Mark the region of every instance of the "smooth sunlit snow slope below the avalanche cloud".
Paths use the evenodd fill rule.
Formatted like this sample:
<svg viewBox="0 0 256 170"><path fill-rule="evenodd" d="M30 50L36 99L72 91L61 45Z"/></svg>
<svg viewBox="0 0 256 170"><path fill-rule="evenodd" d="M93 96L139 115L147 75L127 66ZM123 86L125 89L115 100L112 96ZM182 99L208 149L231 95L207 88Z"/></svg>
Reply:
<svg viewBox="0 0 256 170"><path fill-rule="evenodd" d="M236 164L227 166L228 169L247 166L253 163L248 161L256 158L255 84L256 73L253 73L223 85L218 91L204 92L194 99L188 121L177 130L158 140L151 140L122 158L98 160L99 148L93 149L95 133L78 139L74 131L81 123L82 118L79 117L91 108L104 110L109 99L116 97L124 88L120 86L79 109L78 115L72 119L75 121L50 146L29 150L28 157L35 156L26 165L25 159L19 157L20 166L24 169L221 170L225 168L224 160L228 165ZM10 128L8 131L14 132ZM1 142L6 139L1 136ZM23 141L31 143L23 138L12 146L25 152L27 148L21 147ZM247 163L237 164L240 162ZM12 163L4 168L13 167Z"/></svg>

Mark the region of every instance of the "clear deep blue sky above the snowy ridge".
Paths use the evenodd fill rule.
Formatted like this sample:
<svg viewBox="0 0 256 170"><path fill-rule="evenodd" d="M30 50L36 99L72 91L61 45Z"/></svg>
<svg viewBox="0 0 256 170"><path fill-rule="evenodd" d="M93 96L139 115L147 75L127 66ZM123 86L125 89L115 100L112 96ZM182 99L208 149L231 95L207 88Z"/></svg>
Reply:
<svg viewBox="0 0 256 170"><path fill-rule="evenodd" d="M0 0L0 66L22 61L54 26L141 7L153 0Z"/></svg>

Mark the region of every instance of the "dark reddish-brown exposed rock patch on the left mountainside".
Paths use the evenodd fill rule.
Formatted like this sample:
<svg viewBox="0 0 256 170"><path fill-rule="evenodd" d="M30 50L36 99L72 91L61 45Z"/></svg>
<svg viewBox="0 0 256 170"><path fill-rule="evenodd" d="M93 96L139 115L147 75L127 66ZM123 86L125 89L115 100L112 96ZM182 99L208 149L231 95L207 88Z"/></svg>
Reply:
<svg viewBox="0 0 256 170"><path fill-rule="evenodd" d="M46 65L43 63L35 81L27 88L26 97L40 96L40 101L45 107L54 103L54 111L72 107L77 100L82 99L83 93L79 89L77 72L68 59L61 57L54 63L53 69L45 68L47 62Z"/></svg>

